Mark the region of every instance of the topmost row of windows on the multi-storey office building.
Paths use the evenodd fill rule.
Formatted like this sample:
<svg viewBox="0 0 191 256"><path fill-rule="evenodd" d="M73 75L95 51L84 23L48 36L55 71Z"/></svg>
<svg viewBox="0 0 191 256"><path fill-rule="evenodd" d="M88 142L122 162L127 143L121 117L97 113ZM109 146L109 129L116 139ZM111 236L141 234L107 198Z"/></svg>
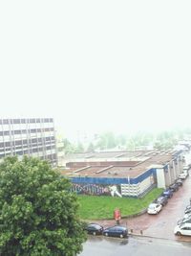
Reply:
<svg viewBox="0 0 191 256"><path fill-rule="evenodd" d="M33 123L53 123L53 118L0 119L0 125L33 124Z"/></svg>

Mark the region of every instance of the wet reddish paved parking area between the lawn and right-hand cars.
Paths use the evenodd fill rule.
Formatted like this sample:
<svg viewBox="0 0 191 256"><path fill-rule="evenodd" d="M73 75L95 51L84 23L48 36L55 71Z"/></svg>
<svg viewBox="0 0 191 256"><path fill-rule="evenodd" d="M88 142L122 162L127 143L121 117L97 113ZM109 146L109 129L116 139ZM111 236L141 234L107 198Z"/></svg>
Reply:
<svg viewBox="0 0 191 256"><path fill-rule="evenodd" d="M121 225L127 225L129 232L133 235L156 237L177 241L191 242L191 237L175 236L174 228L177 221L183 218L185 207L190 204L191 198L191 176L184 181L179 191L168 199L168 203L162 208L158 215L147 213L131 219L122 219ZM104 226L114 225L116 221L97 221Z"/></svg>

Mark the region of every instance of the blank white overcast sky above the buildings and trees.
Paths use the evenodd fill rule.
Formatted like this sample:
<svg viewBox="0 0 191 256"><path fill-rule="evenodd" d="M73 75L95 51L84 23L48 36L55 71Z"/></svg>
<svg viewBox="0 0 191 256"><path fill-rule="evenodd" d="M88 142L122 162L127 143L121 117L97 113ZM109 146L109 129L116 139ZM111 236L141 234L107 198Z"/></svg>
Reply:
<svg viewBox="0 0 191 256"><path fill-rule="evenodd" d="M190 1L1 1L0 117L76 131L191 126Z"/></svg>

